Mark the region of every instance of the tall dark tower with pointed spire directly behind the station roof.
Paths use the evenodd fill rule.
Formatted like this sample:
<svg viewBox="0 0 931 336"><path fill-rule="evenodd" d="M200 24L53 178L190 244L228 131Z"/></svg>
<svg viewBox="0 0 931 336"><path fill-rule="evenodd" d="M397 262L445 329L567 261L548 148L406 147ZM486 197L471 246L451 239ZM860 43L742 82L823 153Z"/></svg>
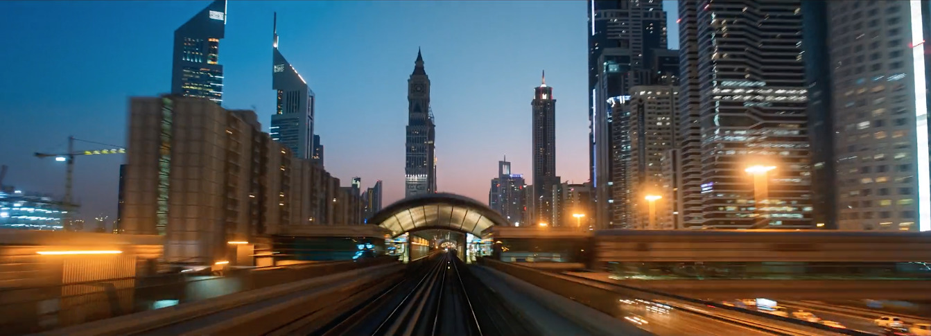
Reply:
<svg viewBox="0 0 931 336"><path fill-rule="evenodd" d="M417 49L413 73L408 79L408 126L404 166L404 196L437 192L436 129L430 109L430 78L424 57Z"/></svg>

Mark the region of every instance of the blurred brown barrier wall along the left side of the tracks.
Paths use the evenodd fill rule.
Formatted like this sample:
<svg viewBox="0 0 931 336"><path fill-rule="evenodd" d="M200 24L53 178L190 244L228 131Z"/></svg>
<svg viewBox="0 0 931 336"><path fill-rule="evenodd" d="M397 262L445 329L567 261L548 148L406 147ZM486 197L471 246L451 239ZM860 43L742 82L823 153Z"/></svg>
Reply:
<svg viewBox="0 0 931 336"><path fill-rule="evenodd" d="M396 259L379 257L358 262L241 269L228 272L226 276L182 273L0 289L0 329L5 335L59 329L389 262L396 262Z"/></svg>

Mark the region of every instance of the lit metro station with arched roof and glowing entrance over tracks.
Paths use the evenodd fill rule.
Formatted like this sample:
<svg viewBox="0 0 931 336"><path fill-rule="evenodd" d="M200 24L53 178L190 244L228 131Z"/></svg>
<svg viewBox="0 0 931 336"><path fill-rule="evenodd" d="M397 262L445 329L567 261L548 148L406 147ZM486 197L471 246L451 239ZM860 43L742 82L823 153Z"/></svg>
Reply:
<svg viewBox="0 0 931 336"><path fill-rule="evenodd" d="M403 261L455 246L460 259L468 262L475 258L470 252L478 250L472 243L487 235L488 229L510 226L492 208L455 194L408 197L383 208L368 222L390 231L388 250ZM448 243L446 248L440 247L443 242Z"/></svg>

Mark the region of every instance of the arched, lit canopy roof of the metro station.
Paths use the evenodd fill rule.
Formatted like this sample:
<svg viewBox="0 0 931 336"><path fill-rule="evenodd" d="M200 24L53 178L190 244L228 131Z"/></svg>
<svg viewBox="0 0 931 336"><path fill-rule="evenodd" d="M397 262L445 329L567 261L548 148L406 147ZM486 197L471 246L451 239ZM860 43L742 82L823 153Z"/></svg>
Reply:
<svg viewBox="0 0 931 336"><path fill-rule="evenodd" d="M492 225L507 220L472 198L455 194L428 194L404 198L383 208L369 221L392 236L424 229L447 229L481 236Z"/></svg>

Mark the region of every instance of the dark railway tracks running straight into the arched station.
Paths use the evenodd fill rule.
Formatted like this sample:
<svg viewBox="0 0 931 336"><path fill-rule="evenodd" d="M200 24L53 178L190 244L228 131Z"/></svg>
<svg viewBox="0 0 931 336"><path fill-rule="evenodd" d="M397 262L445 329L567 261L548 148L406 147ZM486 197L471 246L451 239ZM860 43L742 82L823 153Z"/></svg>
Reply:
<svg viewBox="0 0 931 336"><path fill-rule="evenodd" d="M452 251L412 262L406 272L398 283L310 335L534 334Z"/></svg>

